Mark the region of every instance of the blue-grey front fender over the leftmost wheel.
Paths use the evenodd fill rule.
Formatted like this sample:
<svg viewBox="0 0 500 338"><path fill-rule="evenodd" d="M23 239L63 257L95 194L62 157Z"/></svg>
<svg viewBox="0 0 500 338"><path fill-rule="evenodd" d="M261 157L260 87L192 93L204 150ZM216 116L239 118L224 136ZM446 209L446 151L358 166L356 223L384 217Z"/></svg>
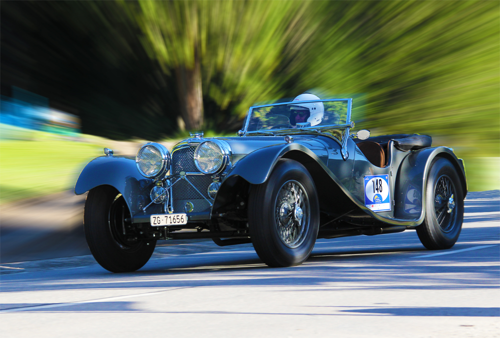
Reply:
<svg viewBox="0 0 500 338"><path fill-rule="evenodd" d="M79 195L99 185L111 185L123 195L133 216L149 201L152 180L142 176L130 156L99 156L81 170L74 193Z"/></svg>

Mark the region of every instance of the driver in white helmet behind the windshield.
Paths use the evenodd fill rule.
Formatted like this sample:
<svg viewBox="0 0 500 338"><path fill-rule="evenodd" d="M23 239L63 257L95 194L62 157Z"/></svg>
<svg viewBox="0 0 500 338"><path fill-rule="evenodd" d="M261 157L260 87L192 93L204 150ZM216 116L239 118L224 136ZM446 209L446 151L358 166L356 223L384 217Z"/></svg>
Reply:
<svg viewBox="0 0 500 338"><path fill-rule="evenodd" d="M320 98L314 94L303 93L296 96L293 101L311 101ZM311 126L319 124L323 119L323 102L294 103L290 107L290 124L293 128L299 122L310 122Z"/></svg>

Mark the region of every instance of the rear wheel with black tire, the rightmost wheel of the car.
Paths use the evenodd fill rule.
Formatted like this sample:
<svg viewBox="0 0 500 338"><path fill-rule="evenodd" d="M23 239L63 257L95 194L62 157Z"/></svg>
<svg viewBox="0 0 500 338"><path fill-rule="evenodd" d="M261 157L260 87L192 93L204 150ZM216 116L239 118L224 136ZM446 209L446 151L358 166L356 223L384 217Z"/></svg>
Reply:
<svg viewBox="0 0 500 338"><path fill-rule="evenodd" d="M436 157L425 190L425 217L416 227L418 238L429 250L448 249L458 239L463 221L463 190L451 162Z"/></svg>

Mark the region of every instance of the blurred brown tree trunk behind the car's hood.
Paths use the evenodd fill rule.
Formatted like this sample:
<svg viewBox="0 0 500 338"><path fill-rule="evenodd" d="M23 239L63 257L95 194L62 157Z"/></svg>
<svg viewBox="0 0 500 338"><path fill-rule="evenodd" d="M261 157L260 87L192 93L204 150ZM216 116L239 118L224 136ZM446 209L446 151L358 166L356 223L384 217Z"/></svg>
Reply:
<svg viewBox="0 0 500 338"><path fill-rule="evenodd" d="M203 125L203 96L199 63L199 57L196 55L192 69L184 64L175 68L180 116L184 120L186 130L200 130Z"/></svg>

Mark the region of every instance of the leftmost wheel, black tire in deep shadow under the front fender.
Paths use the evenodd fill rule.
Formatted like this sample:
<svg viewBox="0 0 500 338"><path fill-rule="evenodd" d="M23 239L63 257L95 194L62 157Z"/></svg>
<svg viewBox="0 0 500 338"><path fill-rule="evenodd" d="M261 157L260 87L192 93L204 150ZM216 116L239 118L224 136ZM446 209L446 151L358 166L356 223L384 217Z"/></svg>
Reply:
<svg viewBox="0 0 500 338"><path fill-rule="evenodd" d="M130 211L123 196L112 186L91 189L85 200L83 227L95 260L111 272L131 272L151 257L156 240L139 240L124 219ZM125 234L123 234L125 232Z"/></svg>

